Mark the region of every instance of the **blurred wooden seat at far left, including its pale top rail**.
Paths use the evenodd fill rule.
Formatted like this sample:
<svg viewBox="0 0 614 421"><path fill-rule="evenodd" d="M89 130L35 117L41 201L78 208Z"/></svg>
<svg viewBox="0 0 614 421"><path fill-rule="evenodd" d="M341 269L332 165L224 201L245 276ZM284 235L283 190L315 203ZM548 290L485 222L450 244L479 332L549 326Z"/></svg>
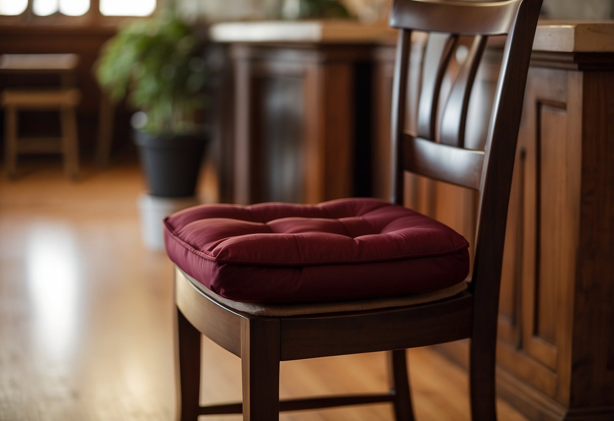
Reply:
<svg viewBox="0 0 614 421"><path fill-rule="evenodd" d="M64 171L72 179L79 174L79 142L76 106L80 93L74 88L79 63L75 54L7 54L0 56L0 71L12 73L55 73L60 87L11 88L2 91L5 114L5 161L8 177L17 175L20 153L61 153ZM20 136L19 114L31 110L54 110L60 117L60 135Z"/></svg>

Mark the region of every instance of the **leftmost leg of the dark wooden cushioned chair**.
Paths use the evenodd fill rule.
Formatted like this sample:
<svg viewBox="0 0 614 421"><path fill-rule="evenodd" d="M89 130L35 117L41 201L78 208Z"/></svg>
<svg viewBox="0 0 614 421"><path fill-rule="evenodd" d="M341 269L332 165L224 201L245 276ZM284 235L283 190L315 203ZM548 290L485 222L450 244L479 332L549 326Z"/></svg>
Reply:
<svg viewBox="0 0 614 421"><path fill-rule="evenodd" d="M177 309L177 421L196 421L200 412L201 334Z"/></svg>

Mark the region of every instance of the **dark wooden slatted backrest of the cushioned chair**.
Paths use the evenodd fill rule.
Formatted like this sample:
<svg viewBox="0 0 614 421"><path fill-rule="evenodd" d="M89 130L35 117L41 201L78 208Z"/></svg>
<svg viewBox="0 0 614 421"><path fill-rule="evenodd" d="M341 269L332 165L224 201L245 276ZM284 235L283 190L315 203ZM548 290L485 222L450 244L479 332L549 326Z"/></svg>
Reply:
<svg viewBox="0 0 614 421"><path fill-rule="evenodd" d="M493 299L499 292L516 139L541 6L542 0L394 0L392 6L391 26L400 29L392 102L392 201L403 204L404 171L479 192L473 244L476 299ZM428 39L419 66L417 122L410 133L405 120L414 31L428 33ZM507 39L491 119L484 122L488 125L484 149L465 149L467 110L478 65L488 38L502 35ZM442 89L459 42L468 45L466 58L451 87Z"/></svg>

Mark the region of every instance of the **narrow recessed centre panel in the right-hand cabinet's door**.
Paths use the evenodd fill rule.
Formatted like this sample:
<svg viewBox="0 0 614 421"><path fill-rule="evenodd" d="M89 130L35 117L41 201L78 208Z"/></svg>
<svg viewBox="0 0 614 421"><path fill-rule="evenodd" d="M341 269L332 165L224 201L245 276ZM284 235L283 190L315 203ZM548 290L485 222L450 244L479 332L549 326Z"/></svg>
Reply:
<svg viewBox="0 0 614 421"><path fill-rule="evenodd" d="M561 203L565 195L565 145L567 111L565 104L539 102L538 136L534 145L535 180L527 189L535 193L527 219L535 221L529 233L527 253L534 252L533 265L525 268L526 325L524 343L527 353L546 367L556 371L556 325L559 312L559 285L564 281L561 273L562 227ZM528 202L528 201L527 201ZM531 224L533 225L533 224ZM531 261L527 258L527 261Z"/></svg>

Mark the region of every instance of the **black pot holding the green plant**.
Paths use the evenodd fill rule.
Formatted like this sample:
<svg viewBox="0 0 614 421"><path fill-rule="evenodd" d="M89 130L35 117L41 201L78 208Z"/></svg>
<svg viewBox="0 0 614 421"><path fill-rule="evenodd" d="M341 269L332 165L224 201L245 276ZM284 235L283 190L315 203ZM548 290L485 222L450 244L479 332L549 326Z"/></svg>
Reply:
<svg viewBox="0 0 614 421"><path fill-rule="evenodd" d="M208 136L204 133L153 136L134 133L152 196L194 196Z"/></svg>

